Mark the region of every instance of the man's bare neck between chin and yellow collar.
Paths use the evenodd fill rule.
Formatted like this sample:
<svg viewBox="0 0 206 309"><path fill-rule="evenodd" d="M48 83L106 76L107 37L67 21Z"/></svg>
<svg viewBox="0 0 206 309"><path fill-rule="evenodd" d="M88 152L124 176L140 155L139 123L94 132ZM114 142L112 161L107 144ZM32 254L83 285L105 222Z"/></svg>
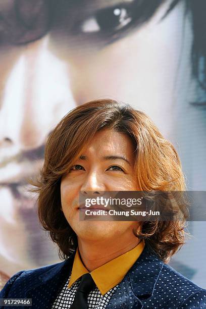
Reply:
<svg viewBox="0 0 206 309"><path fill-rule="evenodd" d="M141 240L137 237L125 241L117 239L89 242L78 238L81 260L89 272L133 249Z"/></svg>

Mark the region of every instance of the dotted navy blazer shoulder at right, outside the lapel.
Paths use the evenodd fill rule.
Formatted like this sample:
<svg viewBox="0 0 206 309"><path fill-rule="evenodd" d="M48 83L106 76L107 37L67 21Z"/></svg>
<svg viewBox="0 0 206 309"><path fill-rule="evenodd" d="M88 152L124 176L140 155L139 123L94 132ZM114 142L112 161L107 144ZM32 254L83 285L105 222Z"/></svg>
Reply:
<svg viewBox="0 0 206 309"><path fill-rule="evenodd" d="M206 308L206 290L164 263L153 295L157 304L163 301L167 308Z"/></svg>

